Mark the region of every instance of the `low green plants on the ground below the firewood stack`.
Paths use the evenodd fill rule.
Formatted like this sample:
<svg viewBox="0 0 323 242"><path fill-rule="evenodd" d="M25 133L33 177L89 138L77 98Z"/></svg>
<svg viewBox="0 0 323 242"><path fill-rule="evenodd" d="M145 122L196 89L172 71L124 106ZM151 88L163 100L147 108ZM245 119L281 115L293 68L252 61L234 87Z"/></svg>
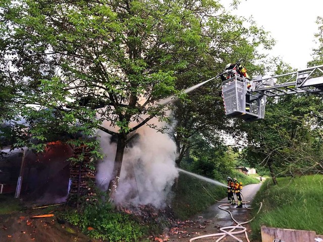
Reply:
<svg viewBox="0 0 323 242"><path fill-rule="evenodd" d="M115 212L109 203L87 205L82 212L70 210L65 218L92 238L116 241L140 241L144 229L128 214ZM93 228L88 229L89 227Z"/></svg>

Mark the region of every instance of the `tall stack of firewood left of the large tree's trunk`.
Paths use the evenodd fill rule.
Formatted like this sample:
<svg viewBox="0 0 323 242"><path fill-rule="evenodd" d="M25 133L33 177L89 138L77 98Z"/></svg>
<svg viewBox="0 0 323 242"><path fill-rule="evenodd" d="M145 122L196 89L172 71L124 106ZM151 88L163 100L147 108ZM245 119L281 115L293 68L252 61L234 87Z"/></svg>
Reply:
<svg viewBox="0 0 323 242"><path fill-rule="evenodd" d="M92 163L90 149L86 146L76 147L73 158L77 159L80 155L84 157L81 161L70 164L71 188L69 202L71 204L91 202L96 200L95 188L95 170L90 169L89 163Z"/></svg>

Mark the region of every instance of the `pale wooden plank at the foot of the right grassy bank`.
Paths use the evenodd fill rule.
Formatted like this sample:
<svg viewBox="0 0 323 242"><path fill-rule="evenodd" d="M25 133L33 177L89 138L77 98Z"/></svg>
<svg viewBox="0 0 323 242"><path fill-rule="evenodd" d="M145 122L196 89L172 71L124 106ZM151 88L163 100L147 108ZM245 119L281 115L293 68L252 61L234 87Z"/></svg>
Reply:
<svg viewBox="0 0 323 242"><path fill-rule="evenodd" d="M273 242L274 239L277 239L277 241L281 240L281 242L310 242L314 241L315 235L315 231L261 226L262 242Z"/></svg>

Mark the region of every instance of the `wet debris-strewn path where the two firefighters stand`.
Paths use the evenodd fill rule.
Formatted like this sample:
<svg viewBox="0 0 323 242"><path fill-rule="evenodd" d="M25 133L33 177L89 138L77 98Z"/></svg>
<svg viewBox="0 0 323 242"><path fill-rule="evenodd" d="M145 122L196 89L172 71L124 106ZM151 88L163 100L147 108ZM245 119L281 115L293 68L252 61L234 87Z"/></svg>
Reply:
<svg viewBox="0 0 323 242"><path fill-rule="evenodd" d="M242 191L243 201L252 201L256 192L260 188L261 184L252 184L245 186ZM210 206L207 210L193 216L190 220L185 221L182 224L179 224L178 229L170 231L170 240L172 242L184 242L189 241L193 237L197 237L205 234L214 234L221 232L219 229L225 226L233 226L236 223L231 219L230 214L226 211L219 209L219 205L223 205L222 208L229 210L235 220L238 222L248 221L250 210L243 205L243 208L238 209L234 205L226 204L227 199L223 199L221 202L218 202ZM247 228L247 232L250 232L250 227L248 224L244 225ZM173 233L173 234L172 234ZM236 235L242 241L247 241L244 233L241 235ZM220 236L201 238L194 241L205 242L205 241L216 241ZM222 241L231 242L237 241L230 236L227 236Z"/></svg>

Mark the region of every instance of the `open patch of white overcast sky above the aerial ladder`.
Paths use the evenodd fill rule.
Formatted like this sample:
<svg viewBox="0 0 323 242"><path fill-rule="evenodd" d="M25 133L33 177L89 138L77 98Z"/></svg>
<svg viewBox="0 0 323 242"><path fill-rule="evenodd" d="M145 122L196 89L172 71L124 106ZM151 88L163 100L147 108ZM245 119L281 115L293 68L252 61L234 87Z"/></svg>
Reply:
<svg viewBox="0 0 323 242"><path fill-rule="evenodd" d="M222 2L227 6L229 1ZM252 16L257 26L271 32L276 40L271 55L281 56L293 68L306 68L312 49L317 46L315 21L317 16L323 17L323 0L241 0L238 11L232 12L246 18Z"/></svg>

